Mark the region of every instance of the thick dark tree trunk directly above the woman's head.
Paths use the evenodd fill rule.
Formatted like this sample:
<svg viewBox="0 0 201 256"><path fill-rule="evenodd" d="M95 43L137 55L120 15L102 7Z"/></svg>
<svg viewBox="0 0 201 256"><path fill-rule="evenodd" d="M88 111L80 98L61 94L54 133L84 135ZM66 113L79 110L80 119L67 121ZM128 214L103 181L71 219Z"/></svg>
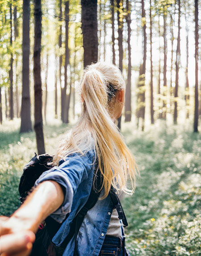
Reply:
<svg viewBox="0 0 201 256"><path fill-rule="evenodd" d="M98 60L97 0L81 0L84 67Z"/></svg>

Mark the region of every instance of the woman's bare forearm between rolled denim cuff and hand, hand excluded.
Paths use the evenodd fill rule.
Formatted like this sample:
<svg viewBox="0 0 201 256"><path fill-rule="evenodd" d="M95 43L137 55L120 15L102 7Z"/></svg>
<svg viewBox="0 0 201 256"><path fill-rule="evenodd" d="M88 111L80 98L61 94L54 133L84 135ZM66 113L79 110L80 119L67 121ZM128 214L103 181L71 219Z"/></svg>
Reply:
<svg viewBox="0 0 201 256"><path fill-rule="evenodd" d="M21 230L36 232L38 225L62 205L63 199L63 190L57 182L44 181L34 189L8 222L12 225L12 222L16 224L17 221L23 225ZM19 227L14 225L12 231L13 229L19 229Z"/></svg>

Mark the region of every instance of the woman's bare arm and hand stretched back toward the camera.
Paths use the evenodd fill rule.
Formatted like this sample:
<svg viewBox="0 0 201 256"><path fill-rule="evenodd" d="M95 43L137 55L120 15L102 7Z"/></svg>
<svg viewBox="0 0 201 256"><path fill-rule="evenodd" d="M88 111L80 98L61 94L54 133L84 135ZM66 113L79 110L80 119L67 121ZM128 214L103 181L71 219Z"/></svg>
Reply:
<svg viewBox="0 0 201 256"><path fill-rule="evenodd" d="M62 205L63 199L63 189L57 182L47 180L39 184L14 214L0 223L0 254L14 255L20 251L19 255L24 256L34 242L32 232L36 232L39 224ZM26 236L26 232L27 239L21 239L20 243L17 235Z"/></svg>

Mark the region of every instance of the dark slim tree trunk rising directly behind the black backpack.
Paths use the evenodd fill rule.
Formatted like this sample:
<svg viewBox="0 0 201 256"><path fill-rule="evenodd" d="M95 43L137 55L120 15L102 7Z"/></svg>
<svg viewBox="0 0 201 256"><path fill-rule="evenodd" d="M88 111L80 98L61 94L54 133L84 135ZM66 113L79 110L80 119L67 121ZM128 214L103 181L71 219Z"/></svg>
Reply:
<svg viewBox="0 0 201 256"><path fill-rule="evenodd" d="M34 0L34 129L38 154L45 153L42 128L42 83L41 83L41 35L42 10L41 0Z"/></svg>

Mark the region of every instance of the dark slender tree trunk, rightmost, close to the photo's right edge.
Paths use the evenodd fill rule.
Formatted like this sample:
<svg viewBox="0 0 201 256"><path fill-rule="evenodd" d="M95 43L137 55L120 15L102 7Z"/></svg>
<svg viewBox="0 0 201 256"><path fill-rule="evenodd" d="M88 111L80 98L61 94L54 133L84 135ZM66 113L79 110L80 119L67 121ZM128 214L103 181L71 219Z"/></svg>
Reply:
<svg viewBox="0 0 201 256"><path fill-rule="evenodd" d="M198 0L195 0L195 110L194 132L198 132Z"/></svg>

